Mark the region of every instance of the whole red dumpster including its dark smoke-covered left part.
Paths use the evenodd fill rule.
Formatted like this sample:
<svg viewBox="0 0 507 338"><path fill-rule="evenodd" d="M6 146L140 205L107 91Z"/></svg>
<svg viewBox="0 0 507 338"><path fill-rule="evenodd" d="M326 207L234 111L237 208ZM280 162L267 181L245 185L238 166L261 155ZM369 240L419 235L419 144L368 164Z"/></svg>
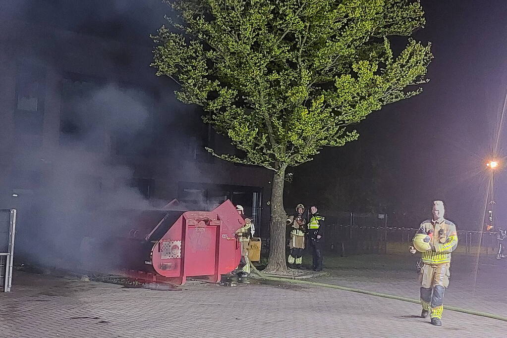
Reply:
<svg viewBox="0 0 507 338"><path fill-rule="evenodd" d="M190 276L220 281L240 262L241 247L234 233L244 221L229 200L211 212L192 210L201 207L172 201L158 209L104 213L97 224L111 226L107 233L90 229L83 238L82 267L174 285Z"/></svg>

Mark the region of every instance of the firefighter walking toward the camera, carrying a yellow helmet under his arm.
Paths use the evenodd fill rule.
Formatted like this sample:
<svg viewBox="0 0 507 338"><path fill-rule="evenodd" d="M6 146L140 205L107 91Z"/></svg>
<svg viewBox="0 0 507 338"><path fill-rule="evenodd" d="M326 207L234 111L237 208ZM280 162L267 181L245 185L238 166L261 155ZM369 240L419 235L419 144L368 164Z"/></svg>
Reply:
<svg viewBox="0 0 507 338"><path fill-rule="evenodd" d="M456 225L444 219L444 202L434 201L433 218L421 223L409 251L421 252L419 273L422 303L421 318L431 318L431 324L442 325L444 291L449 286L451 252L458 245Z"/></svg>

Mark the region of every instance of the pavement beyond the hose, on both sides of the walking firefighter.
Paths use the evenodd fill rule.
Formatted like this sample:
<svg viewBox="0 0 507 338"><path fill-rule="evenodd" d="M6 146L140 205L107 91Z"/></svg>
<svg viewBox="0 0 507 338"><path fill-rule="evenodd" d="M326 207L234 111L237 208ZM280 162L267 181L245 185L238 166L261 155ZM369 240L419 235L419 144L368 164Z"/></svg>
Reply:
<svg viewBox="0 0 507 338"><path fill-rule="evenodd" d="M354 259L362 262L360 269L350 267L328 269L330 278L316 278L316 280L419 299L420 285L415 271L416 260L410 266L406 266L403 262L396 266L392 261L401 259L396 255L377 257L363 255ZM507 293L504 292L507 288L505 278L507 260L499 262L492 258L482 259L475 290L472 274L474 263L475 257L467 255L456 255L453 258L450 285L445 292L444 305L507 317ZM445 312L444 319L448 313L448 311Z"/></svg>

